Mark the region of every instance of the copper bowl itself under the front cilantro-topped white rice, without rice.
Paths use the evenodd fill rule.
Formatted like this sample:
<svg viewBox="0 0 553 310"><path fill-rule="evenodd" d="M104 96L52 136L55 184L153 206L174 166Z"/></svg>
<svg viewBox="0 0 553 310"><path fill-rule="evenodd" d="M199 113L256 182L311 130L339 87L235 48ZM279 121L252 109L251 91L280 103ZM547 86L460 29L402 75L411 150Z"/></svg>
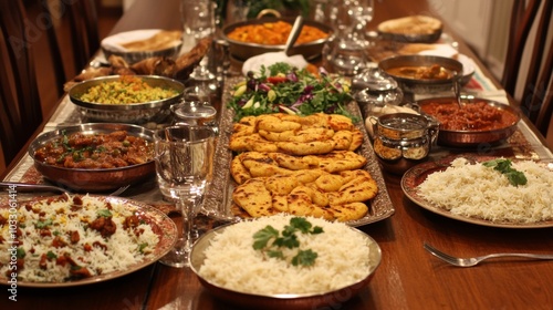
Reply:
<svg viewBox="0 0 553 310"><path fill-rule="evenodd" d="M367 257L367 260L369 261L369 272L365 279L334 291L321 291L315 293L302 294L286 293L268 296L230 290L210 283L208 280L199 276L198 271L204 264L204 260L206 259L205 250L209 247L211 239L213 239L216 234L220 234L221 231L223 231L223 229L231 225L232 224L225 225L210 230L196 241L192 247L192 251L190 252L190 268L198 277L200 283L212 296L225 302L238 306L240 309L334 309L334 307L338 307L351 298L355 297L364 287L368 285L382 259L382 250L378 244L365 232L352 227L352 229L356 230L358 234L362 234L368 239L369 257Z"/></svg>

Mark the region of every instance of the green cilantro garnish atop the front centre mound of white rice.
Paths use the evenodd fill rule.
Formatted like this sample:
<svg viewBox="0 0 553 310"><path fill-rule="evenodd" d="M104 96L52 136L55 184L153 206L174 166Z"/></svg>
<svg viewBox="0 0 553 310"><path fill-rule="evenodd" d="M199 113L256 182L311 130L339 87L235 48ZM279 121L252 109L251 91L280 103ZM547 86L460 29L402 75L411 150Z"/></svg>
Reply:
<svg viewBox="0 0 553 310"><path fill-rule="evenodd" d="M296 232L317 235L324 231L320 226L313 227L305 218L293 217L290 219L290 225L284 226L282 231L268 225L253 234L253 249L261 250L271 258L285 259L281 248L300 248ZM292 257L291 262L293 266L313 266L316 258L317 254L315 251L299 249L296 255Z"/></svg>

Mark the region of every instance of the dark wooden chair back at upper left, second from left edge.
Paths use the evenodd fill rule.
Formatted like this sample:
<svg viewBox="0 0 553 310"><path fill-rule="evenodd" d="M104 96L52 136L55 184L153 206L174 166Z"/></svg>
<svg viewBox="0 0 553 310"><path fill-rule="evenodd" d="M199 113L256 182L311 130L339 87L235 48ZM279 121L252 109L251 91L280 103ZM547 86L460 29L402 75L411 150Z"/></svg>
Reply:
<svg viewBox="0 0 553 310"><path fill-rule="evenodd" d="M64 93L63 84L79 74L100 49L96 3L94 0L73 0L60 1L51 7L45 0L38 0L38 2L46 23L52 25L46 29L46 35L55 68L53 72L55 85L61 96ZM61 25L54 27L56 24L54 21ZM62 44L64 40L66 43ZM67 58L63 56L61 45L71 46L73 68L64 65L63 59Z"/></svg>

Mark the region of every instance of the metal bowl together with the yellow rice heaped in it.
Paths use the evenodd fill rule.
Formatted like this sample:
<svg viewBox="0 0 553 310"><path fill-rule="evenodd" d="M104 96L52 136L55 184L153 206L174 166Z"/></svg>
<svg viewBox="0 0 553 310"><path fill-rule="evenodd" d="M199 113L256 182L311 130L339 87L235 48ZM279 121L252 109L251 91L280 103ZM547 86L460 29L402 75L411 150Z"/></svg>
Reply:
<svg viewBox="0 0 553 310"><path fill-rule="evenodd" d="M86 80L69 91L86 122L163 123L171 104L180 102L185 85L157 75L108 75Z"/></svg>

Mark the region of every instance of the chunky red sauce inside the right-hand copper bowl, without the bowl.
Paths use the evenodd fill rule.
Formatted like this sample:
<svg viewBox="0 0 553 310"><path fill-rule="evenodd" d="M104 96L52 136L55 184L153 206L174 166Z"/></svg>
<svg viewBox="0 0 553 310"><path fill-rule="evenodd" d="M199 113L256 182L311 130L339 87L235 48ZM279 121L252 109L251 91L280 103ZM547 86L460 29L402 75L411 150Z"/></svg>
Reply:
<svg viewBox="0 0 553 310"><path fill-rule="evenodd" d="M440 122L440 130L446 131L493 131L517 122L513 113L486 102L467 103L462 108L457 102L431 102L421 104L420 108L436 117Z"/></svg>

